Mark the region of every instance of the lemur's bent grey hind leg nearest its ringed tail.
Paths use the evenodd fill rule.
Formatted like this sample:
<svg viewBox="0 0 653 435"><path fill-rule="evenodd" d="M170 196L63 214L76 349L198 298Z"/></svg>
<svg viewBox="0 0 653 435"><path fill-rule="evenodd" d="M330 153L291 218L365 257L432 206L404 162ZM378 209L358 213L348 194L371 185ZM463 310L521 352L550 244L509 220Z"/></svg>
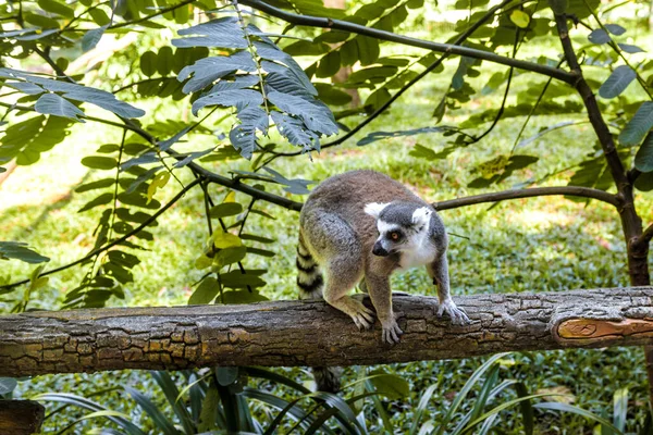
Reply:
<svg viewBox="0 0 653 435"><path fill-rule="evenodd" d="M348 296L364 273L361 244L352 226L340 216L319 210L307 215L301 226L323 268L324 300L348 314L359 330L372 327L373 311Z"/></svg>

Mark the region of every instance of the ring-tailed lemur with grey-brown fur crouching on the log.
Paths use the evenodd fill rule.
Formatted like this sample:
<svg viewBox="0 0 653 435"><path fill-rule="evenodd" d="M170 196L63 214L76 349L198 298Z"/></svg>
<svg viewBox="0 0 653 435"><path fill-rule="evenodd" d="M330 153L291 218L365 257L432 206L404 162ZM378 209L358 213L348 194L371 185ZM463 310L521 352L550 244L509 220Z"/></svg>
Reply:
<svg viewBox="0 0 653 435"><path fill-rule="evenodd" d="M370 328L372 311L348 296L360 283L383 327L382 340L392 345L399 341L402 330L392 311L390 275L426 265L438 285L438 315L446 312L454 323L467 323L469 318L449 295L447 243L435 210L403 184L374 171L332 176L311 191L299 215L299 297L323 297L359 330ZM325 368L315 374L319 389L337 389L328 385L337 380L324 378L336 376Z"/></svg>

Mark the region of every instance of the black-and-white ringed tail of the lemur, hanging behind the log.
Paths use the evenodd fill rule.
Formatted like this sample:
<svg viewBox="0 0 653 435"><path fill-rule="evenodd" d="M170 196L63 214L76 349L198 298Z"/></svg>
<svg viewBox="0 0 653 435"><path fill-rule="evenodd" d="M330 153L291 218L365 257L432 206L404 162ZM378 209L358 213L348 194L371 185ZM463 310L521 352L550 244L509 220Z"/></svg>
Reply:
<svg viewBox="0 0 653 435"><path fill-rule="evenodd" d="M299 287L299 299L321 299L324 278L306 247L304 236L299 233L297 244L297 287ZM318 390L337 393L341 387L342 369L331 366L311 368Z"/></svg>

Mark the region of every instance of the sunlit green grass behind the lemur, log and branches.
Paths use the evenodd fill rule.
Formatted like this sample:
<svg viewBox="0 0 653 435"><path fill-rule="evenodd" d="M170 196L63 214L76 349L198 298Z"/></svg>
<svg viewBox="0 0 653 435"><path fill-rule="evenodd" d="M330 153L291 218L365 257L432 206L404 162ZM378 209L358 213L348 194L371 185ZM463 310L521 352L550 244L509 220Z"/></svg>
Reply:
<svg viewBox="0 0 653 435"><path fill-rule="evenodd" d="M438 38L443 39L443 38ZM542 41L542 52L555 52L557 46L551 40ZM539 54L525 52L522 55ZM447 62L445 73L431 75L403 97L389 112L374 121L364 134L383 129L409 129L432 125L431 112L444 88L455 62ZM486 79L493 65L483 65ZM591 71L602 76L604 72ZM483 78L484 77L484 78ZM479 82L481 83L481 82ZM515 78L514 94L534 86L532 76ZM496 107L500 94L477 98L463 111L445 117L445 124L456 124L469 113ZM510 97L514 102L516 97ZM173 108L162 108L146 122L174 117ZM540 127L566 121L570 116L542 116L532 120L525 137L535 134ZM583 119L578 114L575 119ZM349 119L349 125L356 119ZM438 201L476 195L482 190L467 188L477 175L473 169L479 163L510 151L523 117L510 119L500 125L481 144L459 149L446 160L428 162L409 156L415 144L440 150L445 139L439 135L421 135L399 139L386 139L365 148L357 148L355 140L344 146L313 156L278 160L272 167L287 177L301 177L319 182L325 177L353 169L374 169L387 173L410 186L423 198ZM223 126L229 128L229 125ZM479 126L479 129L486 125ZM359 139L361 136L357 137ZM28 243L40 253L52 259L48 268L73 261L88 252L94 243L91 235L100 210L77 213L77 210L94 198L94 192L76 194L72 189L82 181L99 178L97 172L88 172L79 164L82 157L93 152L101 144L120 140L120 132L97 124L75 126L66 142L33 166L19 167L0 186L0 240ZM208 137L193 136L193 147L200 149ZM528 170L517 172L501 186L486 190L509 188L526 179L540 179L569 167L593 151L595 141L589 125L557 130L519 150L540 157L540 162ZM197 145L199 142L199 145ZM186 145L184 145L186 146ZM188 145L189 146L189 145ZM244 161L213 164L222 174L229 170L248 169ZM564 171L547 179L547 185L564 185L572 171ZM106 175L106 174L104 174ZM182 172L180 178L188 183L190 176ZM169 200L180 186L169 183L157 198ZM279 190L275 190L279 192ZM221 199L224 190L212 187L215 198ZM97 195L97 194L95 194ZM247 198L238 194L237 199ZM301 198L295 197L300 200ZM653 222L653 196L638 194L638 210L644 223ZM248 259L252 268L264 268L268 285L262 293L271 299L293 299L294 252L297 237L297 214L271 204L259 204L276 221L252 216L247 232L273 235L276 256L272 259ZM490 207L473 206L443 211L442 216L452 236L449 264L452 287L455 295L512 291L557 291L575 288L612 287L628 284L626 247L618 215L608 206L591 201L579 203L559 197L522 199ZM168 306L184 304L193 291L193 284L201 276L194 269L194 260L201 252L207 237L204 203L199 189L194 189L170 209L152 228L155 241L145 243L148 251L140 252L141 263L135 268L135 283L125 286L126 299L111 299L112 306ZM461 236L461 237L458 237ZM652 257L653 263L653 257ZM17 261L3 263L1 276L7 281L27 276L32 266ZM74 288L85 273L84 268L66 270L51 276L47 288L33 295L29 308L57 309L66 291ZM412 270L393 277L393 289L414 294L435 295L422 270ZM11 308L11 298L20 297L23 289L4 296L0 310ZM401 345L399 345L401 346ZM420 393L429 385L440 385L429 412L435 418L446 408L467 376L479 364L479 360L414 362L393 364L392 371L405 376L411 384L411 396L405 401L386 403L392 421L402 427L409 417L404 406L417 403ZM280 369L281 370L281 369ZM643 352L639 348L611 348L596 350L568 350L527 352L515 356L515 364L505 369L506 374L523 380L531 393L562 387L575 397L575 403L597 413L609 415L612 395L620 387L630 387L631 414L629 431L634 431L644 417L648 400ZM294 370L303 381L305 372ZM353 371L347 372L349 376ZM20 394L28 397L45 390L73 390L88 394L112 385L140 384L147 376L137 372L104 373L95 375L40 376L21 383ZM121 410L127 407L115 393L106 398ZM508 414L510 415L510 414ZM538 414L538 427L545 434L589 433L591 427L576 417ZM50 422L53 427L57 422ZM519 425L512 417L503 418L500 426L506 433L518 433Z"/></svg>

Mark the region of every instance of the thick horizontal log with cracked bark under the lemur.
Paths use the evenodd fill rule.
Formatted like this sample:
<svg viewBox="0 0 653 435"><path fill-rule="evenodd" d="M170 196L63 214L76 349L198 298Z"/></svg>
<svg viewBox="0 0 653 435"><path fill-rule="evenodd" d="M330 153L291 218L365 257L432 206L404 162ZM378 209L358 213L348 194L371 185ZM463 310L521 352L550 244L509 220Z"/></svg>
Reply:
<svg viewBox="0 0 653 435"><path fill-rule="evenodd" d="M653 345L653 287L456 299L472 323L438 318L438 299L395 295L404 331L381 343L322 301L114 308L0 316L0 376L208 365L350 365L501 351ZM366 304L369 300L366 299Z"/></svg>

